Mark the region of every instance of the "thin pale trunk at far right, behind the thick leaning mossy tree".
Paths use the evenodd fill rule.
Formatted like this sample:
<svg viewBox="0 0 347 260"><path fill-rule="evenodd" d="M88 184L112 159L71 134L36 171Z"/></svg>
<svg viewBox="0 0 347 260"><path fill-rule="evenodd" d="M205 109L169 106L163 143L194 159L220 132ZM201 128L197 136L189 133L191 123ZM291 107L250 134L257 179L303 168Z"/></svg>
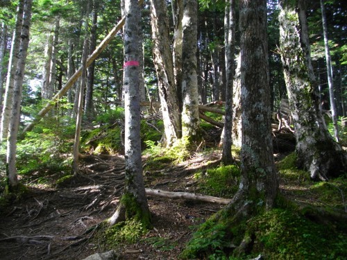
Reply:
<svg viewBox="0 0 347 260"><path fill-rule="evenodd" d="M324 35L324 47L325 47L325 60L326 60L326 69L328 74L328 85L329 85L329 96L330 96L330 110L332 114L332 124L334 125L334 135L335 139L339 141L339 127L337 125L337 109L335 104L335 94L334 94L334 84L332 80L332 64L330 57L330 49L328 42L328 26L325 17L325 7L323 0L321 0L321 12L322 12L322 21L323 21L323 35Z"/></svg>

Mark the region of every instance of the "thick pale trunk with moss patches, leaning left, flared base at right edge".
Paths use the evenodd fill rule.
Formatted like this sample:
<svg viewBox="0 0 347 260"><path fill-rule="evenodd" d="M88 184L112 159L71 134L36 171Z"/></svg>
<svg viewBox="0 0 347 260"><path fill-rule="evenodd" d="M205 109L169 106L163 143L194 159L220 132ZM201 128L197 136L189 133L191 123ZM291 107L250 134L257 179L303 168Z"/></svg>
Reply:
<svg viewBox="0 0 347 260"><path fill-rule="evenodd" d="M312 179L346 172L347 156L330 136L319 110L303 0L280 1L280 53L294 121L297 164Z"/></svg>

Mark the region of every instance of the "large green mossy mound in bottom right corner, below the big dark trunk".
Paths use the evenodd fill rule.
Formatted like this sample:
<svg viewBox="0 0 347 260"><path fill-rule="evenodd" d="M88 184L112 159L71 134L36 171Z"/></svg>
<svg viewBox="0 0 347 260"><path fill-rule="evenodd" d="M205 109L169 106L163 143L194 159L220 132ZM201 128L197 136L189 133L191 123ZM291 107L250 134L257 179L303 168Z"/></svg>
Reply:
<svg viewBox="0 0 347 260"><path fill-rule="evenodd" d="M317 223L301 211L276 208L238 225L208 220L194 233L182 259L344 259L346 229ZM236 248L246 243L244 253Z"/></svg>

